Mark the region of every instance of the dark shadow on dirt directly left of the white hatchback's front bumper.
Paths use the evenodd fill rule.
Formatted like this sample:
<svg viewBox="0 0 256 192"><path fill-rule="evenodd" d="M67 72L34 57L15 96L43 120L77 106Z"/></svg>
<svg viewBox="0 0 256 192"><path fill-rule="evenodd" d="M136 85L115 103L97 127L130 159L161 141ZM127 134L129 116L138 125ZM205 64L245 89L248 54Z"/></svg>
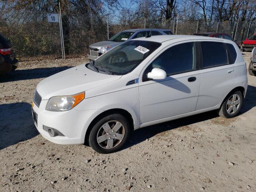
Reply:
<svg viewBox="0 0 256 192"><path fill-rule="evenodd" d="M1 104L0 133L0 149L37 136L31 105L26 102Z"/></svg>

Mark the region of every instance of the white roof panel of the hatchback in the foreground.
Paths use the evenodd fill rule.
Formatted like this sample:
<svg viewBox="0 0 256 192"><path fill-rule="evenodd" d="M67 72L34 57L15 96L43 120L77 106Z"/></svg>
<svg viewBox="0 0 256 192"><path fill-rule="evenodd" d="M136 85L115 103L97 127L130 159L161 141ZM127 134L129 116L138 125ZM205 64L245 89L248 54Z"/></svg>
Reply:
<svg viewBox="0 0 256 192"><path fill-rule="evenodd" d="M165 42L168 40L173 40L173 39L180 39L180 40L200 40L200 39L204 39L204 40L222 40L220 38L213 38L213 37L205 37L205 36L194 36L194 35L156 35L156 36L151 36L151 37L141 37L141 38L136 38L133 39L134 40L144 40L144 41L153 41L153 42Z"/></svg>

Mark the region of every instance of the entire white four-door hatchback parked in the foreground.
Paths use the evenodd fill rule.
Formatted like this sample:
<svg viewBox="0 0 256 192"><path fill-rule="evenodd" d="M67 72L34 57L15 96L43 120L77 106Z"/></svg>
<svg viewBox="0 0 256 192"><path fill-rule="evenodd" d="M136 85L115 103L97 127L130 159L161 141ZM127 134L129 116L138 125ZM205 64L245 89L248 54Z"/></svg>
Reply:
<svg viewBox="0 0 256 192"><path fill-rule="evenodd" d="M138 128L210 110L232 118L246 89L246 64L234 42L152 36L42 80L32 113L51 142L111 153Z"/></svg>

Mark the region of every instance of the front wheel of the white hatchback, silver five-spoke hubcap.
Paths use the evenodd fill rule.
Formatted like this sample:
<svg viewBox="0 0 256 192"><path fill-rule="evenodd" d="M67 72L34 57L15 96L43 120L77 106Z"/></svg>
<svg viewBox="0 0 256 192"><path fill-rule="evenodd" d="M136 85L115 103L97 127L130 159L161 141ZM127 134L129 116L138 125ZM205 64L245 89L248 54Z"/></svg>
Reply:
<svg viewBox="0 0 256 192"><path fill-rule="evenodd" d="M98 153L113 153L126 143L130 124L122 114L109 114L99 120L89 135L89 145Z"/></svg>

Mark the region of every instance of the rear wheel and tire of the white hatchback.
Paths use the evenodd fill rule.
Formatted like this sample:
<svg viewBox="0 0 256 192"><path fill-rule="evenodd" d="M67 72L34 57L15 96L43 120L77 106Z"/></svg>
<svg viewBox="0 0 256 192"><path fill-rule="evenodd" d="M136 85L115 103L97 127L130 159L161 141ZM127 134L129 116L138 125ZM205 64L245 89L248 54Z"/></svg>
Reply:
<svg viewBox="0 0 256 192"><path fill-rule="evenodd" d="M224 118L232 118L236 116L241 109L242 102L243 96L240 91L231 92L218 110L219 116Z"/></svg>

